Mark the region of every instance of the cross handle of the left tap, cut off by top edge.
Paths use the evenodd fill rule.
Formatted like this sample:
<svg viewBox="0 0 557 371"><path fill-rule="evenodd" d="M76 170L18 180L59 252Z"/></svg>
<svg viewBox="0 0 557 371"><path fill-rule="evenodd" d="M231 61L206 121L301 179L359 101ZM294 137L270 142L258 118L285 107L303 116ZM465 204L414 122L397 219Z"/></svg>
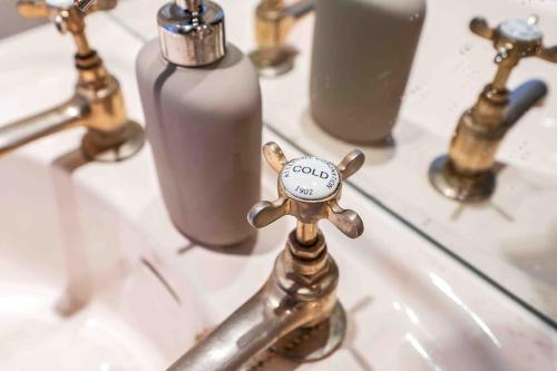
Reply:
<svg viewBox="0 0 557 371"><path fill-rule="evenodd" d="M71 9L89 14L114 9L117 4L118 0L18 0L18 11L26 18L56 18Z"/></svg>

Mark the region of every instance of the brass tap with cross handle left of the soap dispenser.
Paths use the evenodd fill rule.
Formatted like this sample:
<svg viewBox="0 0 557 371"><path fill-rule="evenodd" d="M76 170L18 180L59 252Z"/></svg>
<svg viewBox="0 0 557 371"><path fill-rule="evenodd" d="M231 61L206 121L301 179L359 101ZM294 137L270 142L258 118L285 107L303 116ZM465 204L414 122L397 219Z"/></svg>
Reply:
<svg viewBox="0 0 557 371"><path fill-rule="evenodd" d="M74 96L62 105L0 127L0 156L60 130L84 126L81 149L96 160L121 160L143 146L144 131L127 118L120 86L89 47L85 17L116 7L116 0L98 0L81 11L71 0L19 0L18 10L28 18L50 18L61 33L74 37L78 81Z"/></svg>

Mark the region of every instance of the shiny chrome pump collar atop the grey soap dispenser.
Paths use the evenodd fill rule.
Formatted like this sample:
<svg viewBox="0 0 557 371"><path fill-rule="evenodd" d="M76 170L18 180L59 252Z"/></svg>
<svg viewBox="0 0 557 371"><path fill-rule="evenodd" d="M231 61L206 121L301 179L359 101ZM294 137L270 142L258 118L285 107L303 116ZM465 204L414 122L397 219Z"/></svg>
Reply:
<svg viewBox="0 0 557 371"><path fill-rule="evenodd" d="M201 67L226 55L224 11L208 0L175 0L158 11L163 57L184 67Z"/></svg>

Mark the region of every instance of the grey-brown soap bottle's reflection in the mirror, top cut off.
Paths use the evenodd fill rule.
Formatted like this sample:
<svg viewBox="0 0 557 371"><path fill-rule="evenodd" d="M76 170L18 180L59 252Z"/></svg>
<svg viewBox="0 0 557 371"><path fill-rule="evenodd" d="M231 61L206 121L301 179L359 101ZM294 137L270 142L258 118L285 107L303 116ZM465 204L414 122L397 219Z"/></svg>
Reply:
<svg viewBox="0 0 557 371"><path fill-rule="evenodd" d="M390 137L426 13L424 0L319 0L311 114L358 144Z"/></svg>

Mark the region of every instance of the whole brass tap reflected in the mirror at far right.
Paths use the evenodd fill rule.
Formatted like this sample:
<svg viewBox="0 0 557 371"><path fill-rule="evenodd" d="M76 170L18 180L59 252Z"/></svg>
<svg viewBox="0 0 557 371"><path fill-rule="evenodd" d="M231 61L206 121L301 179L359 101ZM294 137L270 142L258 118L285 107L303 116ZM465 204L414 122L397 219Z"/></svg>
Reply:
<svg viewBox="0 0 557 371"><path fill-rule="evenodd" d="M461 202L482 201L495 191L495 156L500 141L518 119L547 95L540 80L528 80L515 90L507 80L520 59L539 57L557 62L557 46L546 48L537 17L511 19L490 28L482 18L475 18L470 29L491 40L497 55L497 72L460 117L448 156L438 157L429 169L432 185L442 195Z"/></svg>

